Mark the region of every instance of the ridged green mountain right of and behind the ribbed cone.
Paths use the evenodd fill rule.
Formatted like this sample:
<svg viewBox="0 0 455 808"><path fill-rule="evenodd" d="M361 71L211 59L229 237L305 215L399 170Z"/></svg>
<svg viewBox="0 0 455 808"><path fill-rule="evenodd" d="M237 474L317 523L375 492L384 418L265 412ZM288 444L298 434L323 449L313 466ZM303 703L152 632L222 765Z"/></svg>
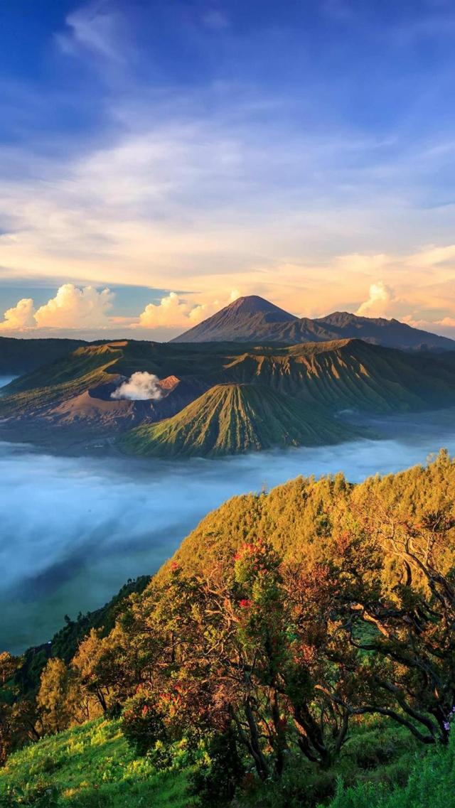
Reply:
<svg viewBox="0 0 455 808"><path fill-rule="evenodd" d="M255 381L326 406L366 412L455 403L455 356L410 354L344 339L248 351L225 366L229 381Z"/></svg>

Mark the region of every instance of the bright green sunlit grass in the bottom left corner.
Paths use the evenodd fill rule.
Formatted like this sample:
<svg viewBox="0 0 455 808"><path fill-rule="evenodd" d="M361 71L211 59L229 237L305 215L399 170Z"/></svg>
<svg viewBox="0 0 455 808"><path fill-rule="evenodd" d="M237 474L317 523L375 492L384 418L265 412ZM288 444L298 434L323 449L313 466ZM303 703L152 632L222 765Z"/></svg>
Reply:
<svg viewBox="0 0 455 808"><path fill-rule="evenodd" d="M119 723L99 719L42 739L0 770L0 806L186 808L186 775L156 772L128 747Z"/></svg>

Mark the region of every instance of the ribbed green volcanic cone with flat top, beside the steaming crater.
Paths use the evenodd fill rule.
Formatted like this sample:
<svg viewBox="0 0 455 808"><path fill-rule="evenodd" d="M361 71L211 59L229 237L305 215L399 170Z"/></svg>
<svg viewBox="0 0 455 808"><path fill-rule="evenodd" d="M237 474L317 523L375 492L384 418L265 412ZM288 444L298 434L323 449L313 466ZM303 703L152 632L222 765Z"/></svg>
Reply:
<svg viewBox="0 0 455 808"><path fill-rule="evenodd" d="M354 431L304 402L260 385L216 385L173 418L137 427L120 439L126 452L204 456L338 443Z"/></svg>

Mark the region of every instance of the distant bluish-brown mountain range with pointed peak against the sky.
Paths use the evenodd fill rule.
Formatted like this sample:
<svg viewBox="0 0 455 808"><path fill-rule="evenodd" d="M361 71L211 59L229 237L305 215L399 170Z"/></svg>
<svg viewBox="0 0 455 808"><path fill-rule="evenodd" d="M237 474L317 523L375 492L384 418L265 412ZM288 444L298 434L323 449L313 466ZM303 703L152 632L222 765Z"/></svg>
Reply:
<svg viewBox="0 0 455 808"><path fill-rule="evenodd" d="M398 320L357 317L348 312L335 312L314 320L297 318L256 295L239 297L173 342L296 345L334 339L364 339L375 345L402 350L455 350L455 340L412 328Z"/></svg>

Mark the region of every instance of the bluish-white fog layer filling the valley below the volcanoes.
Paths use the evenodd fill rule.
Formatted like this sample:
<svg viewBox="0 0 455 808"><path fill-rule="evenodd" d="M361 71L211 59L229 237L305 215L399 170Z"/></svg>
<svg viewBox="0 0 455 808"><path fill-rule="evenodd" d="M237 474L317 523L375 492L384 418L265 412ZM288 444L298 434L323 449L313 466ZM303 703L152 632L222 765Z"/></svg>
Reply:
<svg viewBox="0 0 455 808"><path fill-rule="evenodd" d="M356 482L440 446L455 452L453 410L373 426L383 440L184 464L51 457L0 442L0 650L47 641L65 613L97 608L128 578L153 573L233 494L298 474L341 470Z"/></svg>

